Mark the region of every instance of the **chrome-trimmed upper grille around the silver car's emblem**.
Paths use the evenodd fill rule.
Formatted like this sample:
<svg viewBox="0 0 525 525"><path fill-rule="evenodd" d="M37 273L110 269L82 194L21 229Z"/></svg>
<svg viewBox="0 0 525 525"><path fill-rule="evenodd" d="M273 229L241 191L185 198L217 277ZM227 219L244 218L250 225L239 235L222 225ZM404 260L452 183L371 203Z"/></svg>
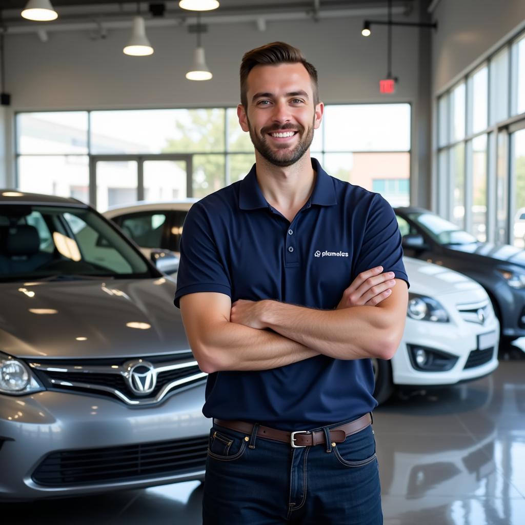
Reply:
<svg viewBox="0 0 525 525"><path fill-rule="evenodd" d="M139 365L141 371L148 369L151 374L143 390L132 377L134 366ZM49 390L98 394L132 406L159 403L169 394L202 384L207 375L199 370L191 352L144 360L43 360L29 366Z"/></svg>

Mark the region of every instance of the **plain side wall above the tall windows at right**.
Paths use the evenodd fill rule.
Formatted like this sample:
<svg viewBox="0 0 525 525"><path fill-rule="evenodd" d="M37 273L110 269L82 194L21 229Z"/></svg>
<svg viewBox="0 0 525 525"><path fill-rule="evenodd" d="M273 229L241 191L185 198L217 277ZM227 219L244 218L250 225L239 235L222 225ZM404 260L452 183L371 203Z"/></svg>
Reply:
<svg viewBox="0 0 525 525"><path fill-rule="evenodd" d="M524 0L441 0L434 12L433 93L449 87L481 55L525 20Z"/></svg>

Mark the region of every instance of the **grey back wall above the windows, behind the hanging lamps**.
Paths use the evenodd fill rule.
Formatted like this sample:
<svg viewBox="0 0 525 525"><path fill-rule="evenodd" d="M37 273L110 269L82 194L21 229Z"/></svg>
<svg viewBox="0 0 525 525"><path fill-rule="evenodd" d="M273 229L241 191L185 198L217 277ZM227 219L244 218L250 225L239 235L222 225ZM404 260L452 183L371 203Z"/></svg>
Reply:
<svg viewBox="0 0 525 525"><path fill-rule="evenodd" d="M415 21L415 16L408 20ZM8 34L6 89L12 95L8 116L27 110L236 105L243 53L274 40L299 47L318 68L324 102L415 103L418 30L394 28L393 73L400 82L394 95L385 96L379 93L379 79L387 72L386 27L373 27L373 35L365 38L362 22L362 17L269 22L265 32L255 24L209 25L203 45L214 78L208 82L184 78L196 37L182 27L148 28L155 48L151 57L123 55L130 30L110 30L107 39L97 41L90 40L88 31L49 32L47 43L36 35ZM4 184L12 184L13 158L6 164ZM416 176L414 169L417 163L412 173Z"/></svg>

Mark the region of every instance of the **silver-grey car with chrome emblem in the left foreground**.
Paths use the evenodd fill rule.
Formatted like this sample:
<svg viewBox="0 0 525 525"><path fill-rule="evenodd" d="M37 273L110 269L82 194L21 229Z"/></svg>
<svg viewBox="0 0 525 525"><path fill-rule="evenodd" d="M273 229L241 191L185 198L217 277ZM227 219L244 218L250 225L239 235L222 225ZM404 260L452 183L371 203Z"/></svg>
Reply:
<svg viewBox="0 0 525 525"><path fill-rule="evenodd" d="M204 478L206 374L174 293L93 208L0 190L0 499Z"/></svg>

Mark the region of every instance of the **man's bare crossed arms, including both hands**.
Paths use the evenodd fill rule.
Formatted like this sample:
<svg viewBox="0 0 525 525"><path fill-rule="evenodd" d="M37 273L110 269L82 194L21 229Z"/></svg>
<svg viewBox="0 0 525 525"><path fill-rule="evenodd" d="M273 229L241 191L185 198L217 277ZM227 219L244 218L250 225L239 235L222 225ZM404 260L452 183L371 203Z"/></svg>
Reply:
<svg viewBox="0 0 525 525"><path fill-rule="evenodd" d="M268 370L324 354L336 359L391 359L403 334L406 282L362 272L335 310L273 300L236 301L223 293L183 296L182 319L203 372ZM268 330L271 329L271 330Z"/></svg>

